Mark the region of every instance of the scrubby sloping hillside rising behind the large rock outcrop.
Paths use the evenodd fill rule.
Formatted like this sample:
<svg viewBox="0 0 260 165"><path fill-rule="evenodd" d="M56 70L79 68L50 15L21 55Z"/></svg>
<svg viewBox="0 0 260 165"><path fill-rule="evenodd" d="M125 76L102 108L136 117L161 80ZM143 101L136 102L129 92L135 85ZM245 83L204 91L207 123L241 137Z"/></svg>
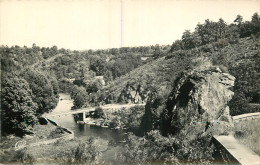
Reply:
<svg viewBox="0 0 260 165"><path fill-rule="evenodd" d="M237 79L235 85L239 86L240 81L247 81L247 88L259 90L256 83L259 82L259 77L254 80L242 77L249 69L251 74L255 72L255 76L259 76L259 55L259 40L250 37L241 38L238 43L227 44L224 47L215 43L175 51L112 81L102 90L102 97L106 102L146 102L148 94L153 90L167 94L180 72L192 69L205 61L211 61L224 72L234 75Z"/></svg>

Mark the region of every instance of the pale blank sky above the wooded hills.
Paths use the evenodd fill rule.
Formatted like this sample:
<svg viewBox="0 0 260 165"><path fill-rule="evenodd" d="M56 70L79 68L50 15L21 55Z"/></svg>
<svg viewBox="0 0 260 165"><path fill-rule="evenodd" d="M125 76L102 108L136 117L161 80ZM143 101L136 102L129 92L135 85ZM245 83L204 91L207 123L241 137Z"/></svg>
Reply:
<svg viewBox="0 0 260 165"><path fill-rule="evenodd" d="M0 45L72 50L172 44L206 19L251 20L260 0L0 0Z"/></svg>

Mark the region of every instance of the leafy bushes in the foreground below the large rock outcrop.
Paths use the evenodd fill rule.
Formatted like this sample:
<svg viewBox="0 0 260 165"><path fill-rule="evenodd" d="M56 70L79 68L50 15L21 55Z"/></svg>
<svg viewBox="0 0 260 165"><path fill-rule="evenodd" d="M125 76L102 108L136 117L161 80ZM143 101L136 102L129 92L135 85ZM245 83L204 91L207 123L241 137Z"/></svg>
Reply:
<svg viewBox="0 0 260 165"><path fill-rule="evenodd" d="M186 130L176 137L164 137L158 130L150 131L144 137L137 137L129 133L124 150L118 153L117 158L121 162L137 164L151 162L212 163L214 147L210 144L211 138L207 136L195 136L194 138L194 132L196 131L188 133ZM193 136L188 136L192 134Z"/></svg>

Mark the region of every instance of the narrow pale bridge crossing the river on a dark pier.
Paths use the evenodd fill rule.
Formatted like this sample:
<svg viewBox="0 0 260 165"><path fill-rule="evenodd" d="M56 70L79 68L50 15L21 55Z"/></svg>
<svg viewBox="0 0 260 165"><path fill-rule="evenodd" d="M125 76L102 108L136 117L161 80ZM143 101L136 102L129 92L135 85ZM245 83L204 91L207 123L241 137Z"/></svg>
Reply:
<svg viewBox="0 0 260 165"><path fill-rule="evenodd" d="M131 108L134 106L144 106L145 104L107 104L104 106L100 106L104 110L104 113L106 112L116 112L118 110L121 110L123 108ZM45 118L50 118L54 116L61 116L61 115L72 115L72 114L83 114L83 117L85 117L86 113L89 113L91 111L95 111L97 107L91 107L91 108L81 108L81 109L75 109L70 112L65 112L65 113L55 113L55 114L45 114L43 117ZM84 119L84 118L83 118Z"/></svg>

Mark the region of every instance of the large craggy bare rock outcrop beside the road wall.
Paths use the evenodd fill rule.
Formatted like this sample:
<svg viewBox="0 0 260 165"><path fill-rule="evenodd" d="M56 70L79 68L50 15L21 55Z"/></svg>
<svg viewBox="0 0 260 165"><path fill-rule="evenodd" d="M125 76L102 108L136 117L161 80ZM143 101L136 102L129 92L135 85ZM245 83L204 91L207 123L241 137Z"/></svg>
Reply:
<svg viewBox="0 0 260 165"><path fill-rule="evenodd" d="M230 90L234 81L233 76L213 66L183 73L176 79L166 101L162 133L176 134L191 127L196 129L196 134L232 133L228 102L234 94Z"/></svg>

